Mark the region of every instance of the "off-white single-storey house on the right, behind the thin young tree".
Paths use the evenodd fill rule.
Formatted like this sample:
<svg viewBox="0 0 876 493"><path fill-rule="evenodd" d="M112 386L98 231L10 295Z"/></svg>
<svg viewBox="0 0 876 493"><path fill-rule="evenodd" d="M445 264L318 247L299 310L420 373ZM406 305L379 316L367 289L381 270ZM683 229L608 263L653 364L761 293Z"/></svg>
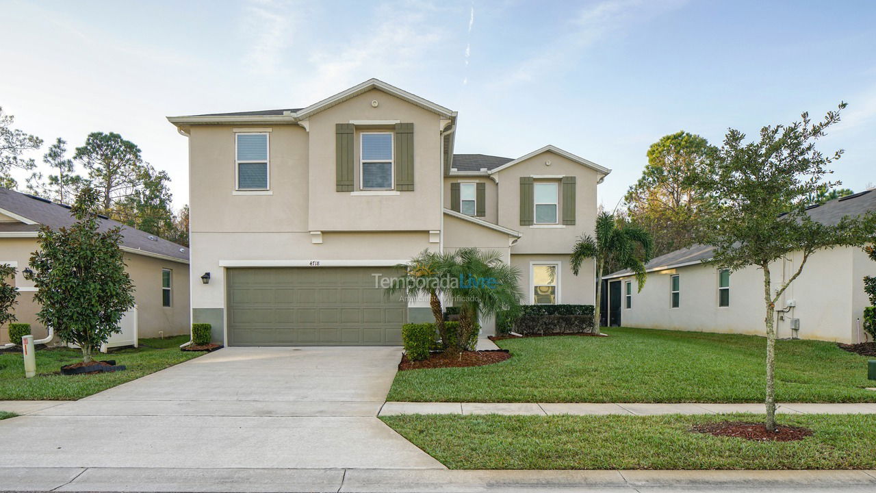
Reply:
<svg viewBox="0 0 876 493"><path fill-rule="evenodd" d="M809 208L809 217L834 225L844 216L876 211L876 191L845 196ZM730 273L703 263L712 248L682 248L647 263L641 292L629 271L604 277L609 325L766 335L763 272L748 267ZM774 262L774 288L800 267L801 252ZM876 262L852 247L825 249L809 256L802 274L776 303L780 338L822 339L855 344L865 340L861 318L868 300L865 275Z"/></svg>

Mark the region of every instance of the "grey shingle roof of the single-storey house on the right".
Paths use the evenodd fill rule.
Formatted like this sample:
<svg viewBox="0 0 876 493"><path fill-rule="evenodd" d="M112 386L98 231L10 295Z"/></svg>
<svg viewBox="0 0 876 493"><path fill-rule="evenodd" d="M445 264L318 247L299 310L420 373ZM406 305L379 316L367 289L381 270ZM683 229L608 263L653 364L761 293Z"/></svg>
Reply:
<svg viewBox="0 0 876 493"><path fill-rule="evenodd" d="M813 221L830 226L837 225L845 217L854 218L869 211L876 211L876 192L872 189L851 196L837 198L821 205L811 206L806 213ZM646 263L646 272L684 267L703 263L703 261L710 261L714 250L713 247L706 245L681 248L675 250L675 252L656 257ZM624 277L625 275L632 275L632 272L629 269L618 270L618 272L605 275L603 279Z"/></svg>

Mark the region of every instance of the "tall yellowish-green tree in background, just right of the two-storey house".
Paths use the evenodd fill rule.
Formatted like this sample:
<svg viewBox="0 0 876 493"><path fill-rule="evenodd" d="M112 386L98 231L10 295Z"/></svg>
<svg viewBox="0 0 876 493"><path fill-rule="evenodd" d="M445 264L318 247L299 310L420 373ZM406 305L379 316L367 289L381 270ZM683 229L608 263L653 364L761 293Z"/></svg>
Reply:
<svg viewBox="0 0 876 493"><path fill-rule="evenodd" d="M696 176L713 152L708 140L683 131L648 147L645 171L624 200L632 222L651 233L655 255L693 242L696 209L704 200L696 189Z"/></svg>

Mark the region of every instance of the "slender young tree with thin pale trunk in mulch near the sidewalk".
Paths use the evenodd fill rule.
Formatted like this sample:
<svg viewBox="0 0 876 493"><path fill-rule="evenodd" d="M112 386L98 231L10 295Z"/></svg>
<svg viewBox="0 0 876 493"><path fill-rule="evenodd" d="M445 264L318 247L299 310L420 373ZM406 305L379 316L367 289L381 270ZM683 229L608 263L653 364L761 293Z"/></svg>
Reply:
<svg viewBox="0 0 876 493"><path fill-rule="evenodd" d="M842 110L845 104L839 105ZM767 329L767 428L775 429L775 304L806 266L809 256L823 248L862 246L874 217L844 218L836 225L813 221L806 213L809 196L823 187L831 162L842 155L825 156L816 141L839 121L839 111L829 111L813 123L807 113L790 125L767 125L759 139L745 141L745 134L731 129L710 167L698 181L710 203L699 213L708 228L699 230L700 242L715 248L711 263L738 270L755 266L763 272L765 325ZM867 225L870 223L870 225ZM799 252L801 260L786 281L774 282L772 264Z"/></svg>

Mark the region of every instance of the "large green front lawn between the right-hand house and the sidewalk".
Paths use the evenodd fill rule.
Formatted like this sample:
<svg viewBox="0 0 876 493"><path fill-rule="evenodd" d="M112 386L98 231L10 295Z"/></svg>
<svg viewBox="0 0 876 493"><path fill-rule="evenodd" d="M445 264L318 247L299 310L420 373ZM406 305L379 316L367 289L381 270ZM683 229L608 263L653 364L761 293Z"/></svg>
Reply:
<svg viewBox="0 0 876 493"><path fill-rule="evenodd" d="M766 339L611 328L611 337L505 339L508 361L401 371L390 401L539 403L763 402ZM876 402L867 358L815 340L776 343L783 402Z"/></svg>

